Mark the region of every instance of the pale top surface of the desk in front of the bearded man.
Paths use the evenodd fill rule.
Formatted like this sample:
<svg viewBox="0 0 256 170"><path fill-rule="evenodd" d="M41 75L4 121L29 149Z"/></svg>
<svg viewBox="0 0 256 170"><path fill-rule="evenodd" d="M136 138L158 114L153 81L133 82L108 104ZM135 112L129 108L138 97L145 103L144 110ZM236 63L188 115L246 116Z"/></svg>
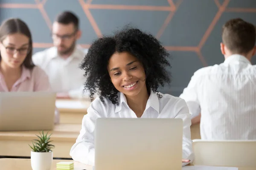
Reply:
<svg viewBox="0 0 256 170"><path fill-rule="evenodd" d="M86 113L91 102L89 99L57 99L56 107L60 112Z"/></svg>

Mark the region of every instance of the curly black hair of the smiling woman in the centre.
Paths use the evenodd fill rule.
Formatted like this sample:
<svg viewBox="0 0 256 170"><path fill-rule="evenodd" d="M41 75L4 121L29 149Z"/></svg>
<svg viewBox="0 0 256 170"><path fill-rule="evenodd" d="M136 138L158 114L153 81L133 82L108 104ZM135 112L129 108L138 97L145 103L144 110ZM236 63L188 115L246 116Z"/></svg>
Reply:
<svg viewBox="0 0 256 170"><path fill-rule="evenodd" d="M171 73L166 69L171 67L166 49L151 34L127 27L113 36L95 40L81 62L80 68L85 71L84 77L87 79L84 90L90 92L91 100L97 93L103 103L104 98L107 98L113 104L119 104L119 91L112 84L108 73L108 61L115 52L129 52L143 64L149 94L150 90L155 93L160 85L171 82Z"/></svg>

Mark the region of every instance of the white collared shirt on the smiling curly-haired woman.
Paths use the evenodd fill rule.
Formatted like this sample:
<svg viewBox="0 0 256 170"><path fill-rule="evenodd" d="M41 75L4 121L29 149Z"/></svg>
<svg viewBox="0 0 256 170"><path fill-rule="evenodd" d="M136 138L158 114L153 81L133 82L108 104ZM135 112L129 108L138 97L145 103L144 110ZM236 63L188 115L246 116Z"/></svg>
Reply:
<svg viewBox="0 0 256 170"><path fill-rule="evenodd" d="M161 94L161 93L159 93ZM186 102L179 97L169 94L157 94L151 91L151 95L146 104L145 111L141 118L180 118L183 119L183 159L194 160L192 152L192 140L190 136L190 113ZM113 105L109 99L105 99L103 104L97 97L87 110L87 115L82 120L82 128L76 143L70 150L70 156L74 161L84 164L94 165L94 130L97 118L137 118L127 102L125 95L119 93L120 105ZM106 132L108 133L108 132ZM168 132L166 132L168 133ZM181 161L181 160L180 160ZM183 163L186 165L187 163Z"/></svg>

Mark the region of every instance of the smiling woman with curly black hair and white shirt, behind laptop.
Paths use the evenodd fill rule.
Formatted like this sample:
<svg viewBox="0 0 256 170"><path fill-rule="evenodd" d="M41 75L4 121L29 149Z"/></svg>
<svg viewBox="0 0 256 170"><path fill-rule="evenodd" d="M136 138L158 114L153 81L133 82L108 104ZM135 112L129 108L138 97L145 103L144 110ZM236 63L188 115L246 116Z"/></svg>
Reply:
<svg viewBox="0 0 256 170"><path fill-rule="evenodd" d="M114 36L101 37L81 63L85 90L98 97L82 121L82 129L70 151L75 161L94 164L94 129L98 118L183 119L183 165L193 160L191 119L183 99L157 92L170 82L169 53L151 34L125 28ZM118 128L118 127L117 127ZM106 132L108 133L108 132Z"/></svg>

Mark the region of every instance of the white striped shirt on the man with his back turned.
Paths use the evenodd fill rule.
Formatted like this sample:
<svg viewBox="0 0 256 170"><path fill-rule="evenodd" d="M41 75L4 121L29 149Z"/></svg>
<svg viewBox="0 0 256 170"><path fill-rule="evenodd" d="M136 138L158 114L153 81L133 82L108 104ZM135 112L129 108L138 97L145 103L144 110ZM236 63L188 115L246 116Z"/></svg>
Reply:
<svg viewBox="0 0 256 170"><path fill-rule="evenodd" d="M201 113L201 139L256 139L256 66L244 56L199 69L180 97Z"/></svg>

